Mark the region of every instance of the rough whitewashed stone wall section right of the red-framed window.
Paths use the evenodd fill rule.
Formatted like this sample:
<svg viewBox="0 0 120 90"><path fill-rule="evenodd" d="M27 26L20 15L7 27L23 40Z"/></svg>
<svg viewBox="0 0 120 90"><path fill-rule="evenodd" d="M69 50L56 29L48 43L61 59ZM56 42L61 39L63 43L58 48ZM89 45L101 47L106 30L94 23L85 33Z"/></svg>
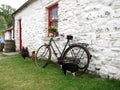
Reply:
<svg viewBox="0 0 120 90"><path fill-rule="evenodd" d="M90 44L89 70L120 79L120 1L64 0L59 6L60 32Z"/></svg>

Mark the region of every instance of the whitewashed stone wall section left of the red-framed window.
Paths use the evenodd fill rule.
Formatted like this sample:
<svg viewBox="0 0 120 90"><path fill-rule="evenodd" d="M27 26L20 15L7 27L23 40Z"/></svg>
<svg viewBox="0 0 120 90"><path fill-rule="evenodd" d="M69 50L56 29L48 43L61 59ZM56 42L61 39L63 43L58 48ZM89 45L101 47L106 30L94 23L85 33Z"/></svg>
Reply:
<svg viewBox="0 0 120 90"><path fill-rule="evenodd" d="M16 49L19 50L19 19L22 25L22 44L30 52L37 50L48 36L47 8L58 0L36 0L15 15Z"/></svg>

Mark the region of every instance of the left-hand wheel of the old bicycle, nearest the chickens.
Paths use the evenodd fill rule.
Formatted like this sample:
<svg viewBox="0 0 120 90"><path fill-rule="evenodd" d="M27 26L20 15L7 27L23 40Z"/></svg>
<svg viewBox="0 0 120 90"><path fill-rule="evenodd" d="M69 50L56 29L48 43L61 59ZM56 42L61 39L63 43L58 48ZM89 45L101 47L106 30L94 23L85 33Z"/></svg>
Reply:
<svg viewBox="0 0 120 90"><path fill-rule="evenodd" d="M42 45L36 53L36 65L45 68L51 59L51 49L48 45Z"/></svg>

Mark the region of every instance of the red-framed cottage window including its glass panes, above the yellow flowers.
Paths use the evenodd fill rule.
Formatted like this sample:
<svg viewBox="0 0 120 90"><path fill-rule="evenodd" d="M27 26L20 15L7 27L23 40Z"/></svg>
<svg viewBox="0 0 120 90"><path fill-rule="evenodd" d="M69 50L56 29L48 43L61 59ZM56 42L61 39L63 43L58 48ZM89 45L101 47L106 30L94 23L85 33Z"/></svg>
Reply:
<svg viewBox="0 0 120 90"><path fill-rule="evenodd" d="M58 4L48 8L48 28L49 27L58 27ZM50 32L48 31L48 36Z"/></svg>

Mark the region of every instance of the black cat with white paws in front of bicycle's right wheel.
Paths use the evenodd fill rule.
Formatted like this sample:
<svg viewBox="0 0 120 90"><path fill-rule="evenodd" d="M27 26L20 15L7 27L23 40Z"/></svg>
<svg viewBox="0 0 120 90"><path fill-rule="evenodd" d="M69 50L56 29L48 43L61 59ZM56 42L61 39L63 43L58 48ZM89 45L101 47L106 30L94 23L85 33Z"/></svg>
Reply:
<svg viewBox="0 0 120 90"><path fill-rule="evenodd" d="M78 65L74 63L64 63L63 61L59 61L58 64L61 66L64 75L67 75L67 72L69 71L75 76L76 72L79 70Z"/></svg>

